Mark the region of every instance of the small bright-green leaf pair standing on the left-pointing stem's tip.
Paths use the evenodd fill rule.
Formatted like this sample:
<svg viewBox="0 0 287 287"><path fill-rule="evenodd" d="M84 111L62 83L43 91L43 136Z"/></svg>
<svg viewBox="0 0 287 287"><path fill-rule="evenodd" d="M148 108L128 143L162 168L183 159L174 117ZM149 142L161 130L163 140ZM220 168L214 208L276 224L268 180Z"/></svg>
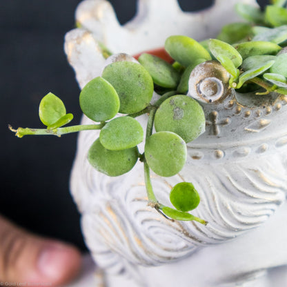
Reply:
<svg viewBox="0 0 287 287"><path fill-rule="evenodd" d="M66 107L59 97L49 92L39 105L39 117L48 129L59 128L73 119L72 114L66 114Z"/></svg>

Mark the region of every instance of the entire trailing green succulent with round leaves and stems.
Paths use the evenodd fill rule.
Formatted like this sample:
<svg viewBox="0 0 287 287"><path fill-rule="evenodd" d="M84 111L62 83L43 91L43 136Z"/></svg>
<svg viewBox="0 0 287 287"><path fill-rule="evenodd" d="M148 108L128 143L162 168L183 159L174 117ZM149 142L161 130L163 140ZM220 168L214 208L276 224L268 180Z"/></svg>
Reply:
<svg viewBox="0 0 287 287"><path fill-rule="evenodd" d="M63 135L79 130L101 130L88 152L88 161L110 177L130 171L143 162L150 206L177 220L206 221L189 213L199 204L199 194L188 182L170 191L173 206L157 201L150 169L161 177L172 177L186 164L186 143L205 131L204 110L188 95L192 70L204 61L218 61L229 73L229 88L254 90L258 95L278 92L287 95L287 10L286 1L273 0L264 11L238 3L237 12L247 23L231 23L217 39L197 42L190 37L168 37L165 50L174 60L168 63L154 55L142 54L136 61L114 61L101 77L92 79L81 91L83 113L95 125L63 128L72 120L61 99L49 93L39 106L46 130L19 128L23 135ZM252 88L250 88L252 86ZM161 97L151 102L157 92ZM146 137L137 117L147 114ZM155 131L155 132L154 132ZM139 152L139 143L144 152Z"/></svg>

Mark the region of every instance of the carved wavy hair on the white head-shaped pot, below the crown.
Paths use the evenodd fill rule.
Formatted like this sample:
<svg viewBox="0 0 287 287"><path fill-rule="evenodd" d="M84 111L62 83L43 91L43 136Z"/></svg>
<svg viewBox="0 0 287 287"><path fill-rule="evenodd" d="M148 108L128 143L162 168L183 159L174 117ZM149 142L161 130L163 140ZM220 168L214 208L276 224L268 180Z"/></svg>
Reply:
<svg viewBox="0 0 287 287"><path fill-rule="evenodd" d="M88 123L88 119L83 120ZM179 181L195 184L201 204L195 222L172 222L152 210L143 185L143 166L127 175L110 178L94 170L88 147L95 132L82 132L72 172L72 195L81 210L83 233L97 264L111 273L135 274L137 264L157 266L190 255L197 248L217 244L264 223L286 197L287 159L273 154L254 160L192 164L180 175L152 184L159 200L168 204L171 186Z"/></svg>

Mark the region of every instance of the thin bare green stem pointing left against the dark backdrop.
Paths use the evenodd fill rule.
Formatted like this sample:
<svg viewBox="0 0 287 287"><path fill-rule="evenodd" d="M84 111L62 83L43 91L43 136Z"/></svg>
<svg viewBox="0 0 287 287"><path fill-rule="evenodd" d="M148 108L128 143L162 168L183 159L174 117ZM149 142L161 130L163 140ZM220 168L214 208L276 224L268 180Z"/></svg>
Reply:
<svg viewBox="0 0 287 287"><path fill-rule="evenodd" d="M53 130L48 130L47 128L18 128L17 130L14 130L12 126L8 127L12 132L16 132L17 137L23 137L24 135L55 135L61 137L61 135L79 132L81 130L100 130L105 124L106 123L103 122L97 125L68 126L66 128L55 128Z"/></svg>

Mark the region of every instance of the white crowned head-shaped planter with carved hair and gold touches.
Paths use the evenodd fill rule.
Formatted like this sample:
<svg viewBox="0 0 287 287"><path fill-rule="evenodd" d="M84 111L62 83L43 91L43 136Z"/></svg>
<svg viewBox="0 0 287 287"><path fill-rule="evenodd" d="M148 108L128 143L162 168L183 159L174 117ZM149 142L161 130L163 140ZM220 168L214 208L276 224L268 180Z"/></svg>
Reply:
<svg viewBox="0 0 287 287"><path fill-rule="evenodd" d="M140 0L136 17L120 26L108 1L83 1L76 13L82 28L66 34L68 61L83 88L105 63L98 41L112 52L135 55L163 46L171 34L215 37L237 19L237 2L218 0L192 13L182 12L176 0ZM203 101L206 132L188 144L186 166L174 177L153 176L166 205L170 186L192 182L201 196L194 215L207 226L172 222L150 208L140 162L120 177L97 172L86 155L98 132L80 133L71 191L108 287L286 286L286 103L285 96L235 92ZM91 120L83 117L82 123Z"/></svg>

